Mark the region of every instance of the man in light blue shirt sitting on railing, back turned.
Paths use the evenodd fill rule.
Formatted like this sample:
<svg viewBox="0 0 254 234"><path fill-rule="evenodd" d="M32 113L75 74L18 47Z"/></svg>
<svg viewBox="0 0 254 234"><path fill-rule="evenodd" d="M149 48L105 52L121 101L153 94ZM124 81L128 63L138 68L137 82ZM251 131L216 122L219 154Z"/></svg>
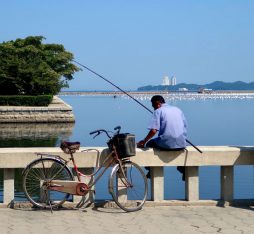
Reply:
<svg viewBox="0 0 254 234"><path fill-rule="evenodd" d="M154 114L148 129L150 130L144 140L137 143L137 147L151 147L167 151L183 150L186 147L186 119L183 112L165 103L160 95L151 98ZM158 132L158 137L151 139ZM149 168L146 168L149 170ZM183 173L182 179L185 180L184 167L178 166L177 170ZM150 178L150 170L147 177Z"/></svg>

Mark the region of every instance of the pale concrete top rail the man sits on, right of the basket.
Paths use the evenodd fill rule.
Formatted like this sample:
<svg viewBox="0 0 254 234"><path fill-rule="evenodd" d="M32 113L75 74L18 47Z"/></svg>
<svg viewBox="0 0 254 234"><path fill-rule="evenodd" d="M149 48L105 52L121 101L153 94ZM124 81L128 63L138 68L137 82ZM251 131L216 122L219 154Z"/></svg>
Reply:
<svg viewBox="0 0 254 234"><path fill-rule="evenodd" d="M232 166L254 165L253 146L198 146L184 151L137 150L133 161L146 166Z"/></svg>

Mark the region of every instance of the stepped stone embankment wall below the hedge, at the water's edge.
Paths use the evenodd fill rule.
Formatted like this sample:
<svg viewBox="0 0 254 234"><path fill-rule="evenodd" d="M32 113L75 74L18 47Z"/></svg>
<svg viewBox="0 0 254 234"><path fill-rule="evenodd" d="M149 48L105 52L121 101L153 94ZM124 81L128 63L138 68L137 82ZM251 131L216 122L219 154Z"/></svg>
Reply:
<svg viewBox="0 0 254 234"><path fill-rule="evenodd" d="M0 123L65 122L75 122L72 107L56 96L47 107L0 106Z"/></svg>

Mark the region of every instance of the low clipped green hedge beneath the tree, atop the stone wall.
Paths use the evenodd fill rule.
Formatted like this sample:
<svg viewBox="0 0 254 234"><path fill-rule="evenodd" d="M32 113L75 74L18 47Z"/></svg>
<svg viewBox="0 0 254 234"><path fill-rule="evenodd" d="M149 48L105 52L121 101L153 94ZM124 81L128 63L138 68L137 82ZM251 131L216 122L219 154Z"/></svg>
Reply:
<svg viewBox="0 0 254 234"><path fill-rule="evenodd" d="M53 95L4 95L0 96L0 106L48 106Z"/></svg>

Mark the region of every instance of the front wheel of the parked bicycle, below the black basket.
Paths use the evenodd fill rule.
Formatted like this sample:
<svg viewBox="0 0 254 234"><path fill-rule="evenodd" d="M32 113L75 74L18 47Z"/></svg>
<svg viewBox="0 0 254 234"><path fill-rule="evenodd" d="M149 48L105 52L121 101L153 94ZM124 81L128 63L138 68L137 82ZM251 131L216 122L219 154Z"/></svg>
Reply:
<svg viewBox="0 0 254 234"><path fill-rule="evenodd" d="M109 192L115 203L124 211L137 211L142 208L147 197L147 179L143 169L136 163L122 162L116 165L109 179Z"/></svg>

